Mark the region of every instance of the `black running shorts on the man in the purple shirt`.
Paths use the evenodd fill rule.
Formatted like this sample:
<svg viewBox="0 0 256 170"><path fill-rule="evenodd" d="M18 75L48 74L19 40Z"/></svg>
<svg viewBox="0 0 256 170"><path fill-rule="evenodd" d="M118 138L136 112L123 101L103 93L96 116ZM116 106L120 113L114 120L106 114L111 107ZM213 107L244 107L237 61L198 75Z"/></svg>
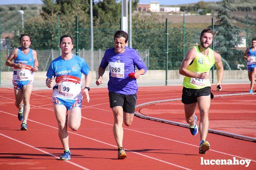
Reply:
<svg viewBox="0 0 256 170"><path fill-rule="evenodd" d="M137 95L131 94L131 95L125 95L115 92L109 92L109 104L110 108L114 108L116 106L123 107L123 111L126 113L134 113L135 112L135 106L137 101Z"/></svg>

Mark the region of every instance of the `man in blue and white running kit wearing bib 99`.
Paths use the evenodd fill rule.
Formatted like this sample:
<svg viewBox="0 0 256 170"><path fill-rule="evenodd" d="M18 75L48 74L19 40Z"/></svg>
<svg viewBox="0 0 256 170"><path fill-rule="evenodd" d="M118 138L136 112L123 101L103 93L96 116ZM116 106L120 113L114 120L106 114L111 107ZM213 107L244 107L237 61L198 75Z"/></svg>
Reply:
<svg viewBox="0 0 256 170"><path fill-rule="evenodd" d="M82 74L85 75L86 87L83 92L89 103L91 74L85 60L72 54L74 44L71 36L63 35L60 38L59 46L61 56L51 61L45 84L48 88L53 88L52 102L58 122L59 138L64 149L60 159L70 160L71 153L67 126L71 130L77 131L81 125L81 103L83 98L81 77Z"/></svg>

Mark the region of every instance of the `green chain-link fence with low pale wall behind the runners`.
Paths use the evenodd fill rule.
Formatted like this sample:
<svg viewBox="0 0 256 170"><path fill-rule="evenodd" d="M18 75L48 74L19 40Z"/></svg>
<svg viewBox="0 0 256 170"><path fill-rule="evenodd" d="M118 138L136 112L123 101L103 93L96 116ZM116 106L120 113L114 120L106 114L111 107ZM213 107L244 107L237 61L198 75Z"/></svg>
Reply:
<svg viewBox="0 0 256 170"><path fill-rule="evenodd" d="M175 17L175 16L174 16ZM186 19L186 17L184 17ZM150 22L150 21L149 21ZM137 23L136 23L137 24ZM143 24L140 23L142 27ZM194 45L199 45L199 37L202 29L214 27L214 32L236 32L236 35L228 37L225 35L226 44L234 44L235 39L240 43L228 46L222 45L222 39L216 36L213 42L213 49L219 52L223 58L224 65L224 83L249 83L246 71L246 61L243 54L246 46L250 45L251 39L256 37L255 25L233 23L239 26L239 29L228 30L218 27L216 21L211 20L205 22L186 21L180 23L169 22L168 24L168 77L166 79L166 28L165 22L159 22L152 29L136 29L132 30L132 47L138 50L140 56L148 67L148 73L138 79L141 85L168 85L180 84L183 76L179 75L178 69L185 53ZM1 29L1 87L12 87L12 70L7 67L5 61L11 51L19 46L19 36L22 32L30 35L32 45L31 48L37 51L40 71L35 73L34 87L45 87L46 71L52 59L59 56L58 37L69 34L74 39L73 53L78 49L78 55L86 60L93 73L93 79L97 78L97 69L104 52L108 48L113 47L114 33L119 29L119 23L114 28L95 27L93 29L94 44L91 51L90 24L78 23L78 37L76 36L76 23L64 24L60 21L60 31L58 32L58 21L47 25L28 24L24 30L13 31L6 27ZM78 44L76 44L78 38ZM78 45L78 48L76 48ZM212 74L213 73L213 74ZM216 82L216 73L212 72L213 82ZM105 73L105 82L108 79L108 73ZM94 81L92 81L92 85ZM107 84L107 83L105 83Z"/></svg>

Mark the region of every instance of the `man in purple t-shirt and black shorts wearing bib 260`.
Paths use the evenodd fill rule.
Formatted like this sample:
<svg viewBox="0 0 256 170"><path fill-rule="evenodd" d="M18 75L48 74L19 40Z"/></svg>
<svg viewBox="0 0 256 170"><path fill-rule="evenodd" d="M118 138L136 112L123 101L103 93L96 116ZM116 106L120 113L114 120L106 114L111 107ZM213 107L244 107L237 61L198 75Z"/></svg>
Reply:
<svg viewBox="0 0 256 170"><path fill-rule="evenodd" d="M109 65L108 96L114 114L113 133L118 146L118 159L126 157L123 149L122 124L130 126L133 121L137 100L138 84L136 79L146 73L147 68L138 52L127 46L128 34L117 31L114 48L106 50L99 67L97 86L103 83L102 76ZM138 71L135 72L135 65Z"/></svg>

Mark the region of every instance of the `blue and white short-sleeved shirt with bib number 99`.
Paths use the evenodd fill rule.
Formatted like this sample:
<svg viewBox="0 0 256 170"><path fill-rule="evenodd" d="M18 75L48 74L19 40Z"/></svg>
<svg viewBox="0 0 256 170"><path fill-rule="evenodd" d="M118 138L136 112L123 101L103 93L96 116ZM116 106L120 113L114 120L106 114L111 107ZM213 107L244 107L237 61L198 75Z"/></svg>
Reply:
<svg viewBox="0 0 256 170"><path fill-rule="evenodd" d="M61 56L53 60L48 68L46 76L56 77L52 97L69 100L81 100L81 76L88 75L89 67L84 59L73 54L69 60L61 59Z"/></svg>

